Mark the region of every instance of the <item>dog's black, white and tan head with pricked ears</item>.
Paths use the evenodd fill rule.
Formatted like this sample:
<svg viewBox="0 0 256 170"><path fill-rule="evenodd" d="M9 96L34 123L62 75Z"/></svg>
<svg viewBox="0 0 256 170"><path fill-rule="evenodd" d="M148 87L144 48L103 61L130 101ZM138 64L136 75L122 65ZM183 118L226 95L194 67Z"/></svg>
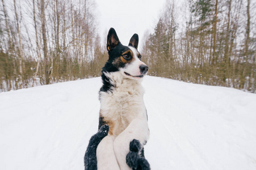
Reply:
<svg viewBox="0 0 256 170"><path fill-rule="evenodd" d="M104 69L108 72L120 71L120 74L129 79L141 79L148 72L148 66L141 61L138 52L139 36L135 33L128 46L119 41L114 28L110 28L107 36L108 61Z"/></svg>

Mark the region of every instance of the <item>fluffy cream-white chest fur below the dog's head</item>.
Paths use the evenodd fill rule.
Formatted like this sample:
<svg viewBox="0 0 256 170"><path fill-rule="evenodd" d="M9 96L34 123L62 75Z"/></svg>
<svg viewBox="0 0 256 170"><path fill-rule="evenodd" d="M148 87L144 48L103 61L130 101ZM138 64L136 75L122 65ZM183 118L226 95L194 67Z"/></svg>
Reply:
<svg viewBox="0 0 256 170"><path fill-rule="evenodd" d="M105 74L114 85L111 91L100 92L100 116L116 137L135 118L146 119L144 89L139 80L123 79L118 73Z"/></svg>

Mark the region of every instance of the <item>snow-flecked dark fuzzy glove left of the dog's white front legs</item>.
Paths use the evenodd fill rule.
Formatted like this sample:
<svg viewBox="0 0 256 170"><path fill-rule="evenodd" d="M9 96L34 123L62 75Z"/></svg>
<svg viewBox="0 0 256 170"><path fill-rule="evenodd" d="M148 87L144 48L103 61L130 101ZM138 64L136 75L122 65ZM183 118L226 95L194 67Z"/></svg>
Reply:
<svg viewBox="0 0 256 170"><path fill-rule="evenodd" d="M108 134L108 125L102 126L99 131L93 135L87 146L85 152L85 170L96 170L97 169L97 159L96 159L96 148L98 147L100 141Z"/></svg>

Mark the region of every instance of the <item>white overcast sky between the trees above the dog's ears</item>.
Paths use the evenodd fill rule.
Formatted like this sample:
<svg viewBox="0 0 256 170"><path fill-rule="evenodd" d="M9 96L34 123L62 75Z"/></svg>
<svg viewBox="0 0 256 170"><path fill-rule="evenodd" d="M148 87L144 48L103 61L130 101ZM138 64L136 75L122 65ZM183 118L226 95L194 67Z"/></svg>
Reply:
<svg viewBox="0 0 256 170"><path fill-rule="evenodd" d="M160 15L165 0L95 0L99 33L105 39L113 27L123 45L128 45L134 33L140 42L144 32L152 30Z"/></svg>

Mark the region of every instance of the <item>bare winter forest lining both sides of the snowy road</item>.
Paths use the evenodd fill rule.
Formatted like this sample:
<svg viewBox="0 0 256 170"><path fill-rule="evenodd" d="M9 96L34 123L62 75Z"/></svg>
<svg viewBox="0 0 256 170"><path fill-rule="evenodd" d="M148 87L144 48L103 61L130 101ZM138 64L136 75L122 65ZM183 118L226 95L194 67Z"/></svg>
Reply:
<svg viewBox="0 0 256 170"><path fill-rule="evenodd" d="M148 75L256 92L251 0L166 1L140 39ZM93 0L1 0L0 92L92 78L108 55Z"/></svg>

